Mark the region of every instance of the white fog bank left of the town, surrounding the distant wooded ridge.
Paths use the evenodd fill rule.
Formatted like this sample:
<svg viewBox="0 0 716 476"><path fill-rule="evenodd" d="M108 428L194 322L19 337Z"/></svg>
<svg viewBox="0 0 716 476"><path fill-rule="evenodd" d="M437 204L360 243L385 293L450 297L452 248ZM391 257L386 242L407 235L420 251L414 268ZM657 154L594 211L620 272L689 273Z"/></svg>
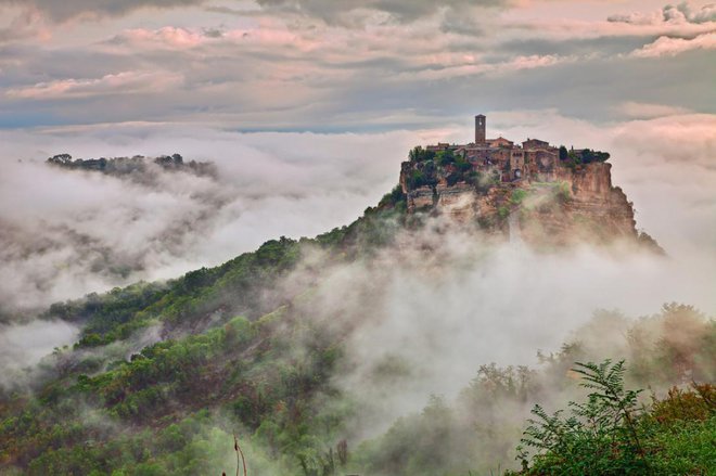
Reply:
<svg viewBox="0 0 716 476"><path fill-rule="evenodd" d="M397 182L414 141L439 137L156 125L0 136L9 144L0 156L0 307L11 311L174 278L269 239L346 224ZM85 158L179 151L214 162L218 177L150 167L150 177L120 179L42 163L65 151Z"/></svg>

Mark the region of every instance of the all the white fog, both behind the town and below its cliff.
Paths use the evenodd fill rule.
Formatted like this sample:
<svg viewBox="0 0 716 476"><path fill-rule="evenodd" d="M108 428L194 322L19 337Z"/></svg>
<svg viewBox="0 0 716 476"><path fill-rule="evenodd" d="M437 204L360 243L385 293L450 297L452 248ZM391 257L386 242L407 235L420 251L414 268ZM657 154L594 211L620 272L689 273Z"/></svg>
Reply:
<svg viewBox="0 0 716 476"><path fill-rule="evenodd" d="M4 132L12 149L3 151L0 176L2 306L44 306L139 279L171 278L269 239L346 224L397 182L410 146L464 141L472 136L466 123L366 134L143 125ZM453 270L446 266L435 274L388 261L369 273L356 263L329 274L334 301L322 312L371 303L381 319L355 335L354 357L365 360L365 372L385 357L381 349L398 349L415 362L424 378L409 391L412 408L429 391L464 385L480 363L532 361L538 348L554 348L599 307L638 316L677 300L714 313L714 126L713 116L693 114L594 125L552 111L488 113L490 136L611 152L614 184L635 202L638 226L668 258L512 248L486 256L474 237L432 236ZM154 170L150 181L120 180L42 164L64 151L78 157L176 151L186 159L215 162L218 179Z"/></svg>

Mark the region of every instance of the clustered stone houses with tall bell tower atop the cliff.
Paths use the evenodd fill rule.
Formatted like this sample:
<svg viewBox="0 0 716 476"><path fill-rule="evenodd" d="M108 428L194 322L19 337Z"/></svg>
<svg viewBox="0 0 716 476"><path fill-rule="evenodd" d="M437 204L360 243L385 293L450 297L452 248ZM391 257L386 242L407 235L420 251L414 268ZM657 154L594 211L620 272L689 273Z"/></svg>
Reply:
<svg viewBox="0 0 716 476"><path fill-rule="evenodd" d="M522 145L499 137L486 139L487 118L475 116L475 142L464 145L438 143L426 149L433 152L452 151L469 160L476 170L497 172L500 180L511 182L532 179L551 182L557 179L559 149L539 139L527 139Z"/></svg>

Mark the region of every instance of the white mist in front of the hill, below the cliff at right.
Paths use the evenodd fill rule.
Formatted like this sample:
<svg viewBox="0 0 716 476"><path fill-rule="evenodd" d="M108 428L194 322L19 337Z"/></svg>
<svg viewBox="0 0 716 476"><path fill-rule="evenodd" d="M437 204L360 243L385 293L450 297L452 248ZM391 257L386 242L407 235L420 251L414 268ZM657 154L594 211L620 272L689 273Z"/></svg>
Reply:
<svg viewBox="0 0 716 476"><path fill-rule="evenodd" d="M666 301L714 312L716 255L657 257L629 247L535 253L478 233L407 234L375 263L327 271L309 314L349 325L350 371L337 377L357 401L357 433L382 432L431 395L457 396L481 364L537 363L597 309L638 317ZM605 338L604 358L616 343ZM376 377L399 362L407 374ZM365 436L363 434L363 436Z"/></svg>

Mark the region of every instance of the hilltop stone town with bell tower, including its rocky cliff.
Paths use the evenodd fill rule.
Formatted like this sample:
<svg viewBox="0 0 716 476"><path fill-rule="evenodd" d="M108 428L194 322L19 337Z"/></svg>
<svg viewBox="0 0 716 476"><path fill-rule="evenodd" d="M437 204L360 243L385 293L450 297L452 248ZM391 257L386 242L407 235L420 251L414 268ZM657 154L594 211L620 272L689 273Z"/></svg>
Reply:
<svg viewBox="0 0 716 476"><path fill-rule="evenodd" d="M493 232L520 226L537 244L639 236L631 203L612 184L609 153L487 139L486 126L481 114L473 142L410 151L400 169L409 214L447 215Z"/></svg>

